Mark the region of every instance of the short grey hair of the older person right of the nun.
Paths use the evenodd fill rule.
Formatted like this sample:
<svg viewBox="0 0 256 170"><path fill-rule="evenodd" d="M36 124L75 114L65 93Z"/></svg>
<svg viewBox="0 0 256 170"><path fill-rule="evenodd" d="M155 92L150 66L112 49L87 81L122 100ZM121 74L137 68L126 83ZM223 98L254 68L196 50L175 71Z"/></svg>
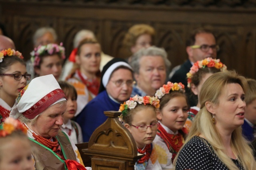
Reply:
<svg viewBox="0 0 256 170"><path fill-rule="evenodd" d="M130 66L132 67L134 73L139 73L140 70L140 59L143 56L161 56L164 59L164 64L166 67L166 72L170 69L171 62L167 58L167 53L163 48L158 48L156 46L148 47L147 49L143 48L132 55L130 61Z"/></svg>

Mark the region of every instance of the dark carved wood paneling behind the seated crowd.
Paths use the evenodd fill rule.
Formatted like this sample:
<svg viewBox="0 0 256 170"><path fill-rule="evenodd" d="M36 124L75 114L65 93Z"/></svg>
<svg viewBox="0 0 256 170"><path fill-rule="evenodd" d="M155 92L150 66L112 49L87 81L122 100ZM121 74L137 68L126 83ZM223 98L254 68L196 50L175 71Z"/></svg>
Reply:
<svg viewBox="0 0 256 170"><path fill-rule="evenodd" d="M102 50L114 57L131 54L122 45L136 23L156 29L154 44L164 47L172 67L187 59L188 33L212 27L221 50L218 58L240 74L256 78L256 0L2 0L0 21L26 59L38 27L52 26L66 54L80 29L91 29Z"/></svg>

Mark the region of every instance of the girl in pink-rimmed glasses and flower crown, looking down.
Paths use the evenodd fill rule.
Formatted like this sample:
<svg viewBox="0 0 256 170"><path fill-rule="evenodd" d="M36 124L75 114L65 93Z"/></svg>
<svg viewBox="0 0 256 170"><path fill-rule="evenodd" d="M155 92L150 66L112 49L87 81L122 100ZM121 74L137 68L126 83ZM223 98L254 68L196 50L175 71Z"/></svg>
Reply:
<svg viewBox="0 0 256 170"><path fill-rule="evenodd" d="M134 96L120 105L124 126L132 134L138 153L144 154L134 166L136 170L161 170L156 148L152 144L159 123L156 120L156 108L159 100L150 96Z"/></svg>

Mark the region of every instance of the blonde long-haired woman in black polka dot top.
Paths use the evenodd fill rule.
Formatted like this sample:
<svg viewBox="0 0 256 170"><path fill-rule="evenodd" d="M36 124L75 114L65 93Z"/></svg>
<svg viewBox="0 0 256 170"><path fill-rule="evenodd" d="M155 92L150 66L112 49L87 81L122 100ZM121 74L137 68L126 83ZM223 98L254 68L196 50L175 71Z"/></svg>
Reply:
<svg viewBox="0 0 256 170"><path fill-rule="evenodd" d="M234 71L210 76L200 92L200 111L174 160L176 170L254 170L252 149L242 136L248 86Z"/></svg>

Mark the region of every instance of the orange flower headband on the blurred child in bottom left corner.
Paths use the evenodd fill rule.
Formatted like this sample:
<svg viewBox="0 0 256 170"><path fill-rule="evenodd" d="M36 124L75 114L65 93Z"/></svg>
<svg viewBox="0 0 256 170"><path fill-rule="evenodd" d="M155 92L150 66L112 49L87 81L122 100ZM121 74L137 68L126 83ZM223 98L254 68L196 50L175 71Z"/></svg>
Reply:
<svg viewBox="0 0 256 170"><path fill-rule="evenodd" d="M27 129L17 119L9 117L0 125L0 137L6 137L14 131L22 131L25 135L27 134Z"/></svg>

